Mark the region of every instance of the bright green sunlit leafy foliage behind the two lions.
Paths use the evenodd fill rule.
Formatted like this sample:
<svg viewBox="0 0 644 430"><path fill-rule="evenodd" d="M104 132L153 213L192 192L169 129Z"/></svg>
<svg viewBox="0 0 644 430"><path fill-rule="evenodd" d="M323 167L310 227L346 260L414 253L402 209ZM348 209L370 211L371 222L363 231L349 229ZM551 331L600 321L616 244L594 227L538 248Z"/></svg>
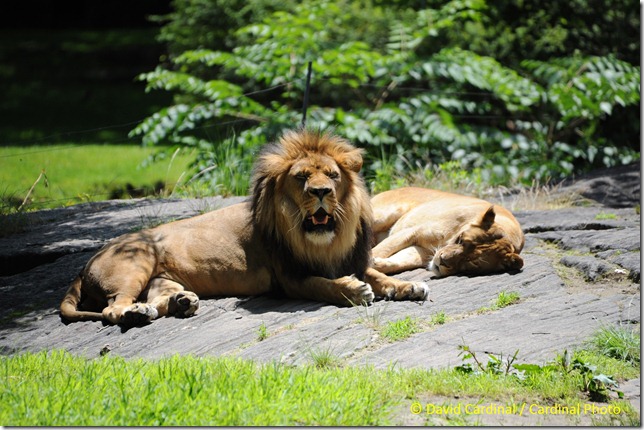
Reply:
<svg viewBox="0 0 644 430"><path fill-rule="evenodd" d="M639 67L608 53L569 51L505 65L458 47L467 44L441 44L489 20L495 9L482 0L392 6L390 18L385 6L365 6L388 30L384 40L367 14L351 13L357 4L302 2L236 30L232 50L186 50L173 59L174 70L141 75L148 90L171 91L176 103L132 135L146 145L197 148L195 169L213 167L201 178L220 185L230 172L214 168L225 164L214 154L231 134L235 150L226 154L232 163L245 160L233 169L239 173L260 145L299 125L311 61L307 124L335 127L364 147L366 176L377 190L413 166L410 154L434 166L458 163L492 184L529 184L639 157L634 141L611 140L602 129L639 105ZM349 28L372 37L360 39L364 33ZM213 133L223 127L234 131ZM631 138L639 136L638 122L628 127Z"/></svg>

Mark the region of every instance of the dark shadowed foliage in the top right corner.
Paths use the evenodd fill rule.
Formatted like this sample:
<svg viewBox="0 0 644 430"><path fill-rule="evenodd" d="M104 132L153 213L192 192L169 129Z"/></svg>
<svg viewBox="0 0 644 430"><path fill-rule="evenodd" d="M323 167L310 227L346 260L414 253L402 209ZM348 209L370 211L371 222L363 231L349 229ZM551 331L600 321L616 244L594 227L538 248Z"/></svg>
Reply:
<svg viewBox="0 0 644 430"><path fill-rule="evenodd" d="M440 0L427 2L430 7ZM483 19L450 31L443 45L469 49L509 66L575 51L618 54L640 64L639 7L629 0L488 0Z"/></svg>

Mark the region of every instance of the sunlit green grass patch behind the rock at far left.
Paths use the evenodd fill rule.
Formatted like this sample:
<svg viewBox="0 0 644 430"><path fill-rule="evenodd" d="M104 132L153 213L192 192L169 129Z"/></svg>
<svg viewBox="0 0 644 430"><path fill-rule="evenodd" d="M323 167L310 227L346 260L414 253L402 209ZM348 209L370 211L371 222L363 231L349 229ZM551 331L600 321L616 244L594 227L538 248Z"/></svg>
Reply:
<svg viewBox="0 0 644 430"><path fill-rule="evenodd" d="M147 188L152 194L157 182L172 188L187 171L191 155L180 153L173 160L142 167L156 151L136 145L98 144L0 147L0 207L6 213L28 195L27 210L107 200L115 193L124 196L122 191L128 184Z"/></svg>

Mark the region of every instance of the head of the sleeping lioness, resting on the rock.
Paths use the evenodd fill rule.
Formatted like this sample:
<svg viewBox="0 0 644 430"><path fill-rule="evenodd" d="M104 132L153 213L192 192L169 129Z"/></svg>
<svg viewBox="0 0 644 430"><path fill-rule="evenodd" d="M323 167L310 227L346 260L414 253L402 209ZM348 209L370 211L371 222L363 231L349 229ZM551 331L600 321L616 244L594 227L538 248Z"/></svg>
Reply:
<svg viewBox="0 0 644 430"><path fill-rule="evenodd" d="M519 270L523 259L503 231L494 223L494 206L480 221L469 224L438 249L429 270L438 276L457 273L486 274Z"/></svg>

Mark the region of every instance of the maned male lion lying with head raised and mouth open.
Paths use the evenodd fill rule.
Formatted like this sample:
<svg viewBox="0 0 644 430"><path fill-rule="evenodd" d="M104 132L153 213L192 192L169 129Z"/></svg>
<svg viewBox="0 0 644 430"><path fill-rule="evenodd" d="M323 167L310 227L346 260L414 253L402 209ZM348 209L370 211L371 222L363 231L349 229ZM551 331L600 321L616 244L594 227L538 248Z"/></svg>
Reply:
<svg viewBox="0 0 644 430"><path fill-rule="evenodd" d="M425 300L427 284L370 267L373 213L362 151L330 132L285 132L253 166L245 202L120 236L60 306L68 321L189 317L200 297L286 296L336 305Z"/></svg>

